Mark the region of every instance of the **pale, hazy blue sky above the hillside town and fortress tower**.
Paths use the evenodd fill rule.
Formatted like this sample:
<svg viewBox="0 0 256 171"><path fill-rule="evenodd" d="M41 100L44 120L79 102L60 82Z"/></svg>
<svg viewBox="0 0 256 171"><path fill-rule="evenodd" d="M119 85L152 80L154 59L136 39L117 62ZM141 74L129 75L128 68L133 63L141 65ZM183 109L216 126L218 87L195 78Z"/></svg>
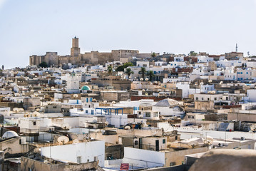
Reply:
<svg viewBox="0 0 256 171"><path fill-rule="evenodd" d="M0 66L47 51L256 55L256 0L0 0Z"/></svg>

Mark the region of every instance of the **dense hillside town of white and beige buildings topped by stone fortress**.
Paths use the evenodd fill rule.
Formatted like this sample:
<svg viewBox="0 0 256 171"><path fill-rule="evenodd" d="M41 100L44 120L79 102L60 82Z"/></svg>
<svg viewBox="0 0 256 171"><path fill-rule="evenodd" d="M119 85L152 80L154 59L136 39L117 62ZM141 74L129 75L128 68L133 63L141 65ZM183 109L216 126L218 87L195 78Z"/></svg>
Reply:
<svg viewBox="0 0 256 171"><path fill-rule="evenodd" d="M236 170L215 162L241 155L253 170L256 56L81 53L78 41L2 66L1 170Z"/></svg>

